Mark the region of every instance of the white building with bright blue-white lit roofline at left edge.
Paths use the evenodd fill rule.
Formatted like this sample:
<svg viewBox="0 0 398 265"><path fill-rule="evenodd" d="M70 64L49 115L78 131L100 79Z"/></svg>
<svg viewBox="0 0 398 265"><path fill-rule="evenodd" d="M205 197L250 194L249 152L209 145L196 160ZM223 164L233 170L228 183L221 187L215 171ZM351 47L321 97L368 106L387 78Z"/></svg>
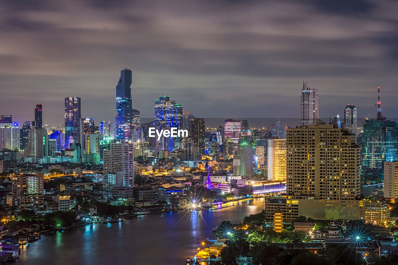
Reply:
<svg viewBox="0 0 398 265"><path fill-rule="evenodd" d="M0 150L20 150L20 128L18 123L0 123Z"/></svg>

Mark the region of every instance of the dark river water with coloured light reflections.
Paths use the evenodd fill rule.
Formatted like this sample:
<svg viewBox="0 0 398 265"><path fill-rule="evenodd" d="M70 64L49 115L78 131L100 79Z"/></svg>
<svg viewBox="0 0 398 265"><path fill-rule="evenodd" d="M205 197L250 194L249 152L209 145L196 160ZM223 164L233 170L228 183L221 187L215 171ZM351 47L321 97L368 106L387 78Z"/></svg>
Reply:
<svg viewBox="0 0 398 265"><path fill-rule="evenodd" d="M203 210L199 216L186 210L173 211L43 234L41 240L21 246L18 264L185 265L185 258L196 254L202 240L215 239L213 226L224 220L239 223L245 215L263 208L264 199L256 198L222 209Z"/></svg>

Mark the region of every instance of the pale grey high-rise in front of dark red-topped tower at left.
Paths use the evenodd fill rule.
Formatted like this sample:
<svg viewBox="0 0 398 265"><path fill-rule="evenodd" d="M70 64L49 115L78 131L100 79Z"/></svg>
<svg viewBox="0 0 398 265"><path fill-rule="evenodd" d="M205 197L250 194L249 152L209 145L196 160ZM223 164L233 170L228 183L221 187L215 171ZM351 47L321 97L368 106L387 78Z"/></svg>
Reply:
<svg viewBox="0 0 398 265"><path fill-rule="evenodd" d="M25 152L25 161L39 163L45 157L51 157L49 139L45 128L36 128L32 126L29 131L29 143Z"/></svg>

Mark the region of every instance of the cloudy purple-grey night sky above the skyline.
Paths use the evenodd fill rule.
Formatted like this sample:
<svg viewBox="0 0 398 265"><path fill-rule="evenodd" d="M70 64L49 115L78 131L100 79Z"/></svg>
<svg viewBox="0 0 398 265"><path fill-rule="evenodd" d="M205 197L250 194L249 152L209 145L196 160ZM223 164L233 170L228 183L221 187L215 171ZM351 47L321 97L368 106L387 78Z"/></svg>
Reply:
<svg viewBox="0 0 398 265"><path fill-rule="evenodd" d="M386 0L3 0L0 114L32 120L41 103L62 124L74 96L82 117L114 120L127 66L142 117L159 95L199 117L298 117L303 79L322 117L374 116L377 86L398 117L397 14Z"/></svg>

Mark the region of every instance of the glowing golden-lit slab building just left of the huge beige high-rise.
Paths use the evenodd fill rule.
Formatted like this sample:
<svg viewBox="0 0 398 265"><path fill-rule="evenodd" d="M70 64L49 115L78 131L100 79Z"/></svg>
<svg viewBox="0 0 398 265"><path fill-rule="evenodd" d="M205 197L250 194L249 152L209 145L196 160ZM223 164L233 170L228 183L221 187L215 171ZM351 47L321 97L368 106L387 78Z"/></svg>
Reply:
<svg viewBox="0 0 398 265"><path fill-rule="evenodd" d="M268 139L268 180L286 181L286 139Z"/></svg>

